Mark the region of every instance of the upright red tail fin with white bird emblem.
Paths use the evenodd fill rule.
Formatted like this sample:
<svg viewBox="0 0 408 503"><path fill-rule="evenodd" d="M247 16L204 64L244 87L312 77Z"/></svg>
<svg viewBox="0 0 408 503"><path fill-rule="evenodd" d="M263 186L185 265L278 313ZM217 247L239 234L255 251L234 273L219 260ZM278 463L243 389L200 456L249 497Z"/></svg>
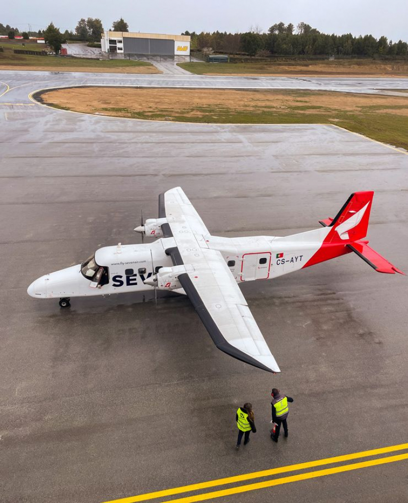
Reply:
<svg viewBox="0 0 408 503"><path fill-rule="evenodd" d="M322 225L331 227L324 242L346 244L366 237L373 195L372 191L354 192L333 220L322 220Z"/></svg>

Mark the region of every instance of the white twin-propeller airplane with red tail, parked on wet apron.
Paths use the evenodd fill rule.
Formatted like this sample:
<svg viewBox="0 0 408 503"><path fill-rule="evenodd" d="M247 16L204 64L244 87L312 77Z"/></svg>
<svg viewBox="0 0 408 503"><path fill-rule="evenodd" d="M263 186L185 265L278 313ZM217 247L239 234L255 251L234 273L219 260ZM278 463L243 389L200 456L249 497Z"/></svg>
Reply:
<svg viewBox="0 0 408 503"><path fill-rule="evenodd" d="M96 250L82 264L41 276L28 287L35 298L110 295L156 289L187 295L216 346L260 369L280 369L238 284L271 280L354 252L375 271L404 274L363 238L374 192L354 192L321 228L291 236L224 238L210 234L181 187L159 195L159 218L134 229L156 238Z"/></svg>

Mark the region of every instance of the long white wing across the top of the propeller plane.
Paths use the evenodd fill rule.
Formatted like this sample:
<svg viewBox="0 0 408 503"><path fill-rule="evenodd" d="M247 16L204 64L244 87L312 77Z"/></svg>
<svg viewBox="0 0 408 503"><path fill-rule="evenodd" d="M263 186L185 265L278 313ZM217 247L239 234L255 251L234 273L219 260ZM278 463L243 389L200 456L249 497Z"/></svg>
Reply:
<svg viewBox="0 0 408 503"><path fill-rule="evenodd" d="M166 253L174 265L186 267L179 281L215 345L250 365L280 372L224 258L208 247L208 229L183 190L165 192L161 204L161 217L176 243Z"/></svg>

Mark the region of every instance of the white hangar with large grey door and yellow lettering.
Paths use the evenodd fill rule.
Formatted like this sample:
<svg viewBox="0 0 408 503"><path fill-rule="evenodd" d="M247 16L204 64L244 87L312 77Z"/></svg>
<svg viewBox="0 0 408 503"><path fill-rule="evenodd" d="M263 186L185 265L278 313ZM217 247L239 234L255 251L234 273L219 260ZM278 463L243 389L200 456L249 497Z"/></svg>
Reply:
<svg viewBox="0 0 408 503"><path fill-rule="evenodd" d="M105 32L101 39L103 53L141 59L190 60L190 36L161 33Z"/></svg>

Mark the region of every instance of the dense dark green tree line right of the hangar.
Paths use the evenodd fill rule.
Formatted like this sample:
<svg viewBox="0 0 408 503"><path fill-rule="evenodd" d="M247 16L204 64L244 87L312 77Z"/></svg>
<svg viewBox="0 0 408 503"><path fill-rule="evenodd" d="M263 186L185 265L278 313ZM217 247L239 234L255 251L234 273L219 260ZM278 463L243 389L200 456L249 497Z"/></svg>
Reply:
<svg viewBox="0 0 408 503"><path fill-rule="evenodd" d="M273 24L266 33L251 29L246 33L189 32L193 49L211 48L227 54L246 53L249 56L408 56L408 44L393 42L386 36L355 37L351 33L336 35L321 33L310 24L301 22L296 29L292 23Z"/></svg>

